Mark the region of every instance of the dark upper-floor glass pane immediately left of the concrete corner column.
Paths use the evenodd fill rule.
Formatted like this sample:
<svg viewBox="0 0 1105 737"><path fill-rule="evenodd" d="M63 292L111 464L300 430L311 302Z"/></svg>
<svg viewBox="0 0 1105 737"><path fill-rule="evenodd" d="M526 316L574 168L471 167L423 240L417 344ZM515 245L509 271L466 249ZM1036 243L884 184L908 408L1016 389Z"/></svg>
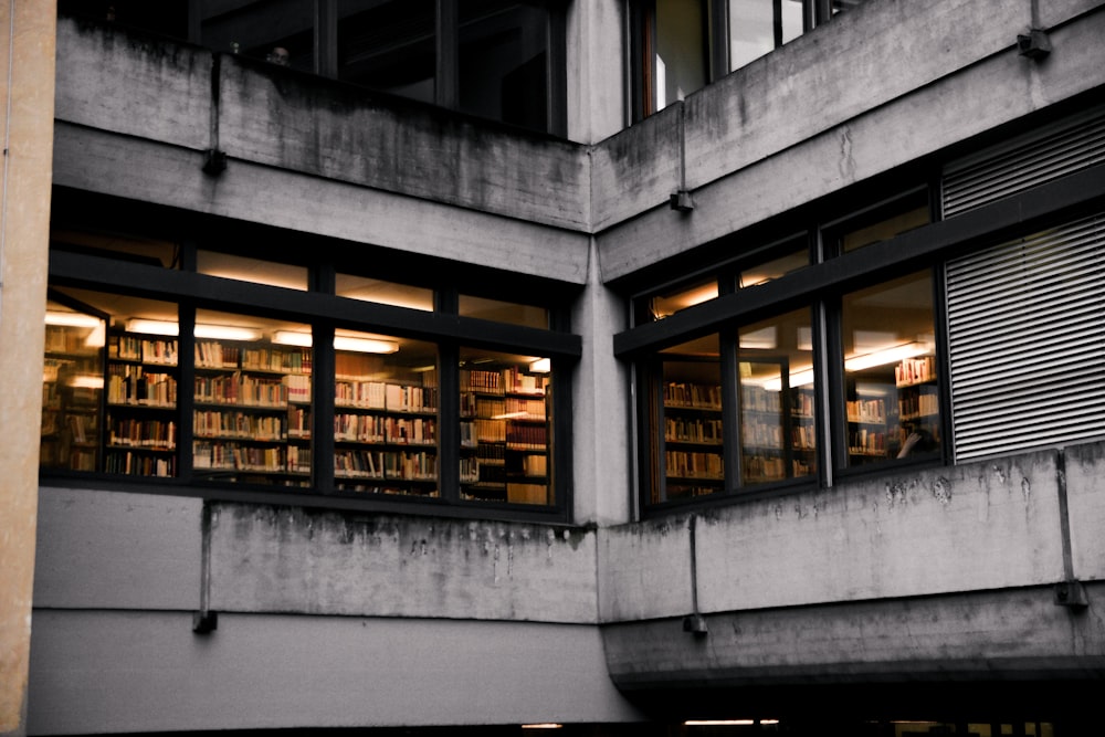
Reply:
<svg viewBox="0 0 1105 737"><path fill-rule="evenodd" d="M548 11L526 2L460 3L460 108L548 128Z"/></svg>

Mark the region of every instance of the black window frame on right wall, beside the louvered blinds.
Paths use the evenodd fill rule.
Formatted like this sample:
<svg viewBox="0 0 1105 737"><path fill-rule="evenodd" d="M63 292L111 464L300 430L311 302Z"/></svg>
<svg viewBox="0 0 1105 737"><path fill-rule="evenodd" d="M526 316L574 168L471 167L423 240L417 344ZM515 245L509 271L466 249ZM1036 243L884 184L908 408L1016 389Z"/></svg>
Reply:
<svg viewBox="0 0 1105 737"><path fill-rule="evenodd" d="M922 167L924 173L920 179L929 180L930 170ZM902 172L895 175L895 181L901 181ZM916 171L914 171L916 176ZM1096 179L1095 179L1096 178ZM814 203L797 212L787 213L785 218L776 219L776 222L794 222L796 219L811 223L825 222L831 231L839 223L852 221L856 213L866 217L870 212L883 212L883 206L890 203L893 208L895 201L899 201L902 196L914 194L920 186L898 187L901 196L893 198L880 198L873 200L874 204L861 210L853 210L846 218L825 218L819 215L820 212L839 212L842 202L855 202L862 200L862 194L872 194L886 191L886 179L871 182L864 187L852 188L848 191L838 192L827 198L825 201ZM916 181L916 179L914 179ZM938 181L935 176L930 178L924 188L936 191ZM882 188L880 190L880 188ZM930 202L938 198L929 197ZM905 467L947 465L954 457L954 435L951 429L951 403L950 387L945 379L939 383L940 423L941 438L940 450L918 459L887 460L884 463L876 463L866 466L846 467L836 459L841 453L840 431L841 414L843 413L842 397L833 390L840 383L838 380L843 373L843 356L840 355L840 312L839 304L843 295L849 292L872 286L884 281L904 276L909 273L930 270L933 274L934 288L934 320L937 341L937 370L939 376L948 377L948 355L947 355L947 318L946 305L944 302L944 263L947 259L962 255L972 250L985 249L1018 234L1032 231L1033 229L1045 228L1050 223L1063 222L1071 217L1092 211L1099 207L1105 199L1105 166L1097 166L1092 169L1071 175L1062 180L1056 180L1041 185L1031 190L1012 194L1002 200L982 206L976 210L965 212L951 219L934 219L929 224L902 232L888 240L880 241L866 245L862 249L842 254L835 254L833 249L823 251L824 240L822 228L811 224L810 238L811 248L818 254L815 263L810 267L802 269L786 274L771 282L757 285L754 288L734 289L730 293L722 293L716 299L688 307L671 315L662 320L645 324L638 324L633 327L614 335L614 355L623 360L631 361L634 367L635 391L638 394L638 422L635 423L636 448L639 463L641 464L638 474L640 480L639 498L642 514L659 514L665 509L677 507L695 507L699 505L712 505L725 502L736 502L740 499L759 498L765 495L780 494L794 488L830 488L838 478L851 478L859 476L878 475L885 473L901 472ZM936 208L936 204L932 206ZM726 239L724 243L730 245L739 242L743 236L751 234L751 242L764 242L764 229L770 228L771 223L765 223L757 228L749 229L747 233L737 233ZM779 239L779 242L786 239ZM705 257L708 254L716 257L718 249L716 244L708 244L703 248ZM703 265L699 255L691 267L684 266L686 273L703 273L708 266ZM671 274L673 264L664 264L664 272ZM646 274L655 274L657 271L650 269ZM678 280L669 283L675 284ZM659 286L657 286L659 284ZM663 288L664 283L630 283L628 280L621 285L623 292L628 293L630 309L636 304L634 299L646 297L655 293L657 288ZM758 322L771 315L782 314L789 309L799 307L811 307L814 310L813 340L814 340L814 364L820 361L821 368L818 372L818 407L821 417L818 420L820 434L818 435L819 454L831 454L825 459L819 455L819 473L815 477L807 480L806 483L777 483L764 485L747 492L733 486L733 478L729 470L736 470L736 462L728 459L736 450L730 438L738 438L739 429L729 428L726 423L726 484L728 491L724 494L713 494L691 501L662 502L653 504L650 501L652 489L648 487L648 467L644 465L649 459L653 443L662 443L662 436L656 438L648 425L646 407L642 403L642 396L649 389L648 380L650 376L650 362L660 356L660 350L678 345L692 337L711 333L726 331L734 333L740 325ZM723 356L726 352L723 349ZM730 381L723 376L723 381ZM724 387L723 387L724 390ZM729 404L734 404L728 400ZM839 407L838 407L839 406ZM736 408L728 409L727 418L736 418Z"/></svg>

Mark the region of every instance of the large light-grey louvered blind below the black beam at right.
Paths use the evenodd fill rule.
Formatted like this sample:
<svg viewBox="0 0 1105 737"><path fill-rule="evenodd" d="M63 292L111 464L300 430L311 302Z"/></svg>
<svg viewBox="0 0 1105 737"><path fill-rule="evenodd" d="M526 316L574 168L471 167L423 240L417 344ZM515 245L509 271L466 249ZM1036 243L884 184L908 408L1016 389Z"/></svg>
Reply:
<svg viewBox="0 0 1105 737"><path fill-rule="evenodd" d="M1105 435L1105 214L948 263L957 461Z"/></svg>

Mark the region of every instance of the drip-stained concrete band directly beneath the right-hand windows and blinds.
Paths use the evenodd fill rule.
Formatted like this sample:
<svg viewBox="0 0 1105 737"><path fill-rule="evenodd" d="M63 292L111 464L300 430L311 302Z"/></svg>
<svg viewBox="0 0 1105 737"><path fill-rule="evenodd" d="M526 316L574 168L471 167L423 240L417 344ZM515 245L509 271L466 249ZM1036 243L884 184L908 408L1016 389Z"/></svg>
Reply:
<svg viewBox="0 0 1105 737"><path fill-rule="evenodd" d="M1074 451L1072 451L1074 452ZM1080 448L1069 472L1077 575L1105 577L1105 461ZM1064 578L1055 452L843 482L828 491L696 513L701 611L1045 586ZM1072 509L1073 512L1074 509ZM1095 531L1097 530L1097 531ZM604 622L692 611L688 517L600 537Z"/></svg>

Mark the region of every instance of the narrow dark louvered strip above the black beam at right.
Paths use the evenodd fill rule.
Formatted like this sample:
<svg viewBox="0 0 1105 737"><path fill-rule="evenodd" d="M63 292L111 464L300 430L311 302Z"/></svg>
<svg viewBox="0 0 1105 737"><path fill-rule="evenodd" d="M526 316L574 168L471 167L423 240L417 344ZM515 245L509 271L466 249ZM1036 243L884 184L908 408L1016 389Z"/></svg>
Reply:
<svg viewBox="0 0 1105 737"><path fill-rule="evenodd" d="M1105 107L1097 107L946 166L944 217L1103 161Z"/></svg>

